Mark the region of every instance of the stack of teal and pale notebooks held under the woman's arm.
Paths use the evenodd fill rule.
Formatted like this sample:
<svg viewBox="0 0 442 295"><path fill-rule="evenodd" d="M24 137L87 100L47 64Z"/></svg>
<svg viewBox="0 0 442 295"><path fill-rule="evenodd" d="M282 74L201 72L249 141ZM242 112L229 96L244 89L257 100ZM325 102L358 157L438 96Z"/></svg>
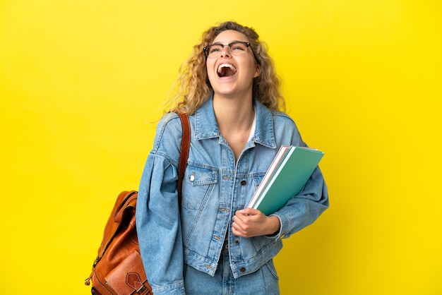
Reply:
<svg viewBox="0 0 442 295"><path fill-rule="evenodd" d="M304 188L323 155L312 148L282 145L247 207L265 215L280 210Z"/></svg>

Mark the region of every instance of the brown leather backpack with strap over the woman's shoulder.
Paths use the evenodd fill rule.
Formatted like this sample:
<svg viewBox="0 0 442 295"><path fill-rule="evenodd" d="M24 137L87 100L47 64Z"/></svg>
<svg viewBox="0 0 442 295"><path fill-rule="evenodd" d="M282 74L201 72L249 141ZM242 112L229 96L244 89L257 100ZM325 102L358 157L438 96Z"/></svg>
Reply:
<svg viewBox="0 0 442 295"><path fill-rule="evenodd" d="M179 156L178 201L181 206L181 186L190 147L189 118L179 114L183 126L181 153ZM98 256L92 265L92 273L85 280L92 280L94 295L153 294L144 272L135 226L137 191L119 193L111 215L104 227L104 235Z"/></svg>

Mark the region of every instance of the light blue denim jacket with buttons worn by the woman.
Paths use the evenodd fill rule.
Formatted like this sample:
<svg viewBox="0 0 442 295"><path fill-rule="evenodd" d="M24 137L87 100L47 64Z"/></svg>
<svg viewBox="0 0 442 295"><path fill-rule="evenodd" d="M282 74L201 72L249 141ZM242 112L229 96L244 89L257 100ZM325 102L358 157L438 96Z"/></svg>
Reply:
<svg viewBox="0 0 442 295"><path fill-rule="evenodd" d="M191 148L181 213L177 199L181 121L166 115L157 125L153 149L141 177L136 228L148 280L157 294L185 294L183 264L214 275L223 243L229 243L234 277L255 272L282 248L282 238L311 224L328 208L328 191L317 168L299 195L274 215L274 236L232 234L235 211L249 203L281 145L306 146L294 121L254 101L256 128L241 155L220 134L210 97L189 116Z"/></svg>

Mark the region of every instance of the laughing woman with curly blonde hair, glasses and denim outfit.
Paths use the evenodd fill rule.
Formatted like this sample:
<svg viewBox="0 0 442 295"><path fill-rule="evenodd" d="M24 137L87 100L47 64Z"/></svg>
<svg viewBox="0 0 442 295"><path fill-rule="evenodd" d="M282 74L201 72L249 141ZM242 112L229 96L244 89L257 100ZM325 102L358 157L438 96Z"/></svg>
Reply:
<svg viewBox="0 0 442 295"><path fill-rule="evenodd" d="M282 238L328 208L317 168L299 195L272 215L246 208L281 145L306 146L256 32L234 22L203 33L181 66L157 126L138 193L136 227L153 293L279 294L273 257ZM181 122L191 148L181 211L177 180Z"/></svg>

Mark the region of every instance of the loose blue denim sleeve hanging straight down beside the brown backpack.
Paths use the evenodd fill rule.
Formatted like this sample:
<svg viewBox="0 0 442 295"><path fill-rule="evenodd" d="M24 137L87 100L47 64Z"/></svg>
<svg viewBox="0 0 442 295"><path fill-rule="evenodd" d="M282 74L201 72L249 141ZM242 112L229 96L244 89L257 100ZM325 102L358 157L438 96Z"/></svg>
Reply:
<svg viewBox="0 0 442 295"><path fill-rule="evenodd" d="M155 146L148 155L138 189L136 229L141 258L155 295L185 294L183 246L177 195L179 148L169 145L170 157L161 152L165 124L157 128ZM181 127L179 127L181 128ZM170 133L170 132L169 132ZM177 134L169 138L177 140ZM181 138L179 138L181 140ZM176 155L178 152L178 155Z"/></svg>

